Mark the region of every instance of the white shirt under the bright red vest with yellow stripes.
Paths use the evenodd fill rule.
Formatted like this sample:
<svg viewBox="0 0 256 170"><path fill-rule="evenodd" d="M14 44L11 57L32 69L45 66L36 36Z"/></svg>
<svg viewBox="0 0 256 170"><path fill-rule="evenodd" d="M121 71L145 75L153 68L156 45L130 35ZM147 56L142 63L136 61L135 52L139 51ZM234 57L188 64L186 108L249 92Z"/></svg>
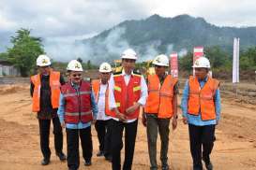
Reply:
<svg viewBox="0 0 256 170"><path fill-rule="evenodd" d="M133 72L131 72L131 75L133 75ZM122 71L122 76L125 79L126 85L128 85L130 75L127 75L125 73L125 71L123 70ZM113 75L112 75L111 78L110 78L110 81L109 81L109 106L110 106L111 110L113 108L117 107L116 104L115 104L115 99L114 99L114 95L113 95L113 87L114 87L114 80L113 80ZM146 86L145 79L142 76L142 78L141 78L141 98L138 100L138 103L141 104L142 106L144 106L145 102L146 102L146 98L147 98L147 86ZM118 121L117 118L112 117L112 119ZM133 122L135 120L137 120L137 119L127 120L126 122Z"/></svg>

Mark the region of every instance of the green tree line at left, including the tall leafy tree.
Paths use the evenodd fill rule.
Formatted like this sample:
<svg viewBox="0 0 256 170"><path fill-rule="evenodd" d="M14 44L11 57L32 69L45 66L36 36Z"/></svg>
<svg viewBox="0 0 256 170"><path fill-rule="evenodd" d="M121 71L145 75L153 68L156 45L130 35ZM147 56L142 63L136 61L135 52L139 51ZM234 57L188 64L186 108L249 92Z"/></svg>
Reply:
<svg viewBox="0 0 256 170"><path fill-rule="evenodd" d="M40 37L32 36L31 30L21 28L16 32L15 36L10 37L12 46L6 52L0 53L0 59L7 60L16 66L23 77L27 77L37 69L36 61L38 55L44 54L45 51ZM50 56L51 57L51 56ZM78 58L83 63L81 58ZM66 70L68 63L53 62L53 66ZM98 66L91 64L88 60L83 64L83 69L94 69Z"/></svg>

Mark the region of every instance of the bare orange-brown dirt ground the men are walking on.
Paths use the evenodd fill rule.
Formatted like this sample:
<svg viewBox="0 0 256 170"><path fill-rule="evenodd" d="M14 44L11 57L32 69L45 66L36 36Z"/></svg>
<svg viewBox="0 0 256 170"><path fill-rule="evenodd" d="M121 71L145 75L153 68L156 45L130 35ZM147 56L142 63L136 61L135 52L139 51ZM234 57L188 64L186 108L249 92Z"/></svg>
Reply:
<svg viewBox="0 0 256 170"><path fill-rule="evenodd" d="M67 169L67 163L59 162L53 154L53 134L51 134L52 162L47 166L40 165L38 120L31 113L28 85L0 86L0 108L1 170ZM255 110L256 106L239 104L231 98L222 100L222 119L217 128L217 141L212 153L215 169L256 169ZM191 169L188 127L181 120L178 123L178 128L172 131L170 136L169 163L174 170ZM98 139L94 128L92 133L93 165L88 168L81 164L80 169L111 169L110 163L96 157ZM158 146L160 146L159 139ZM66 151L66 135L64 148ZM160 164L159 159L158 164ZM133 169L149 169L146 134L141 122L138 128Z"/></svg>

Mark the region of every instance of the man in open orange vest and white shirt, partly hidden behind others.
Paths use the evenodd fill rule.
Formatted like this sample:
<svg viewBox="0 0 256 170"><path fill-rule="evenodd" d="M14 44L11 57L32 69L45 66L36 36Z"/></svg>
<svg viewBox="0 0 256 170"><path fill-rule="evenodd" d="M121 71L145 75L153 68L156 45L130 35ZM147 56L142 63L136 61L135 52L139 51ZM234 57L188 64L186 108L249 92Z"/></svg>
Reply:
<svg viewBox="0 0 256 170"><path fill-rule="evenodd" d="M93 92L98 104L98 116L95 128L98 133L99 151L97 156L105 156L107 161L112 161L111 155L111 135L112 119L107 116L109 111L109 79L112 73L112 66L108 63L102 63L99 66L99 79L92 80Z"/></svg>

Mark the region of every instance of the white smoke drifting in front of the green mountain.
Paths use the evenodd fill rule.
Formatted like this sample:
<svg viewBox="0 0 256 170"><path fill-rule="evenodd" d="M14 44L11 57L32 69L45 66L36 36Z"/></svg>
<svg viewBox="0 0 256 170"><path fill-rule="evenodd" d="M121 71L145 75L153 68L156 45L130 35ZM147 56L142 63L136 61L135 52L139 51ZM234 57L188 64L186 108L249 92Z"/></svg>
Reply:
<svg viewBox="0 0 256 170"><path fill-rule="evenodd" d="M96 35L96 34L94 34ZM47 54L54 61L68 62L73 59L81 58L83 62L90 60L92 64L102 62L112 63L113 60L119 59L123 50L134 48L138 53L138 62L144 62L154 59L160 52L158 49L162 45L161 40L154 40L139 47L131 47L124 37L126 28L115 27L106 37L96 37L94 41L86 40L92 35L83 35L77 37L46 38L44 41ZM164 54L170 56L173 53L173 44L167 45ZM186 49L178 52L178 56L184 56L188 53Z"/></svg>

